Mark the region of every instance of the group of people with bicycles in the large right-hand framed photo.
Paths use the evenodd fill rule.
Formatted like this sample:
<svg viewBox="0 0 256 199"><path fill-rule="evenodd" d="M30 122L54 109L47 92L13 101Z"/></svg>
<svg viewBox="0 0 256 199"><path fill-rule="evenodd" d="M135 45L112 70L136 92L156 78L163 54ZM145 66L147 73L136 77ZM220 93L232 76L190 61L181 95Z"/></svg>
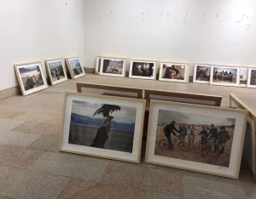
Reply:
<svg viewBox="0 0 256 199"><path fill-rule="evenodd" d="M218 128L216 128L214 124L211 124L210 128L202 126L201 131L199 131L195 129L195 124L192 124L191 126L182 124L179 125L179 129L177 129L175 125L176 122L172 121L164 128L164 134L168 139L170 150L173 148L171 134L179 137L183 141L185 140L186 136L189 136L189 145L194 145L196 135L195 132L197 131L197 135L201 136L202 145L207 145L207 142L212 140L214 143L214 151L219 150L221 154L224 153L224 146L226 145L227 141L230 140L230 134L228 131L226 131L224 126L220 127L218 131ZM179 135L177 135L175 131Z"/></svg>

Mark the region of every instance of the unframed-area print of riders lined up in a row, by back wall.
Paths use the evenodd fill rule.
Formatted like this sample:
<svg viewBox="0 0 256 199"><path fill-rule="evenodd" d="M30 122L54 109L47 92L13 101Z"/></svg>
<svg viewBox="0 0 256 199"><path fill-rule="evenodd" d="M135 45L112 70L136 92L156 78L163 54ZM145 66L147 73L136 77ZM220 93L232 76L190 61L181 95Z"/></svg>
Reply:
<svg viewBox="0 0 256 199"><path fill-rule="evenodd" d="M236 68L213 67L212 82L228 82L236 84L237 78Z"/></svg>

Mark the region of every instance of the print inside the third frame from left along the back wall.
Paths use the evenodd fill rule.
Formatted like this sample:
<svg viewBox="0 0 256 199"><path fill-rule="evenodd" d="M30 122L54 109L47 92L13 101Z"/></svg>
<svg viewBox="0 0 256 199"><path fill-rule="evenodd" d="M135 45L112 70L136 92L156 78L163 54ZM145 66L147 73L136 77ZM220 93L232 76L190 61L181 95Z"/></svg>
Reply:
<svg viewBox="0 0 256 199"><path fill-rule="evenodd" d="M164 64L162 78L184 80L185 67L185 65Z"/></svg>

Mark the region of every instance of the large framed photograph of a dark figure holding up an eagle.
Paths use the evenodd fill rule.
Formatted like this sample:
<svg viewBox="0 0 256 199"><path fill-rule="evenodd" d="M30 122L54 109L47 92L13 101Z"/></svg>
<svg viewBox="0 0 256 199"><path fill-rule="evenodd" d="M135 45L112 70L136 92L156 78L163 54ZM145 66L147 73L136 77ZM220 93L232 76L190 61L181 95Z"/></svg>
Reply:
<svg viewBox="0 0 256 199"><path fill-rule="evenodd" d="M140 162L144 99L66 93L60 151Z"/></svg>

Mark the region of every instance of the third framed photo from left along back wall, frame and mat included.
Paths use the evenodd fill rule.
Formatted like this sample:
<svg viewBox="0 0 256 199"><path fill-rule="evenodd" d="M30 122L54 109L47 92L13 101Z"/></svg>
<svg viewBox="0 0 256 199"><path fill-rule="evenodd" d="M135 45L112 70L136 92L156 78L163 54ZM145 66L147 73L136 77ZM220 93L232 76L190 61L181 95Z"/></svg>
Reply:
<svg viewBox="0 0 256 199"><path fill-rule="evenodd" d="M189 82L189 64L161 62L160 81Z"/></svg>

